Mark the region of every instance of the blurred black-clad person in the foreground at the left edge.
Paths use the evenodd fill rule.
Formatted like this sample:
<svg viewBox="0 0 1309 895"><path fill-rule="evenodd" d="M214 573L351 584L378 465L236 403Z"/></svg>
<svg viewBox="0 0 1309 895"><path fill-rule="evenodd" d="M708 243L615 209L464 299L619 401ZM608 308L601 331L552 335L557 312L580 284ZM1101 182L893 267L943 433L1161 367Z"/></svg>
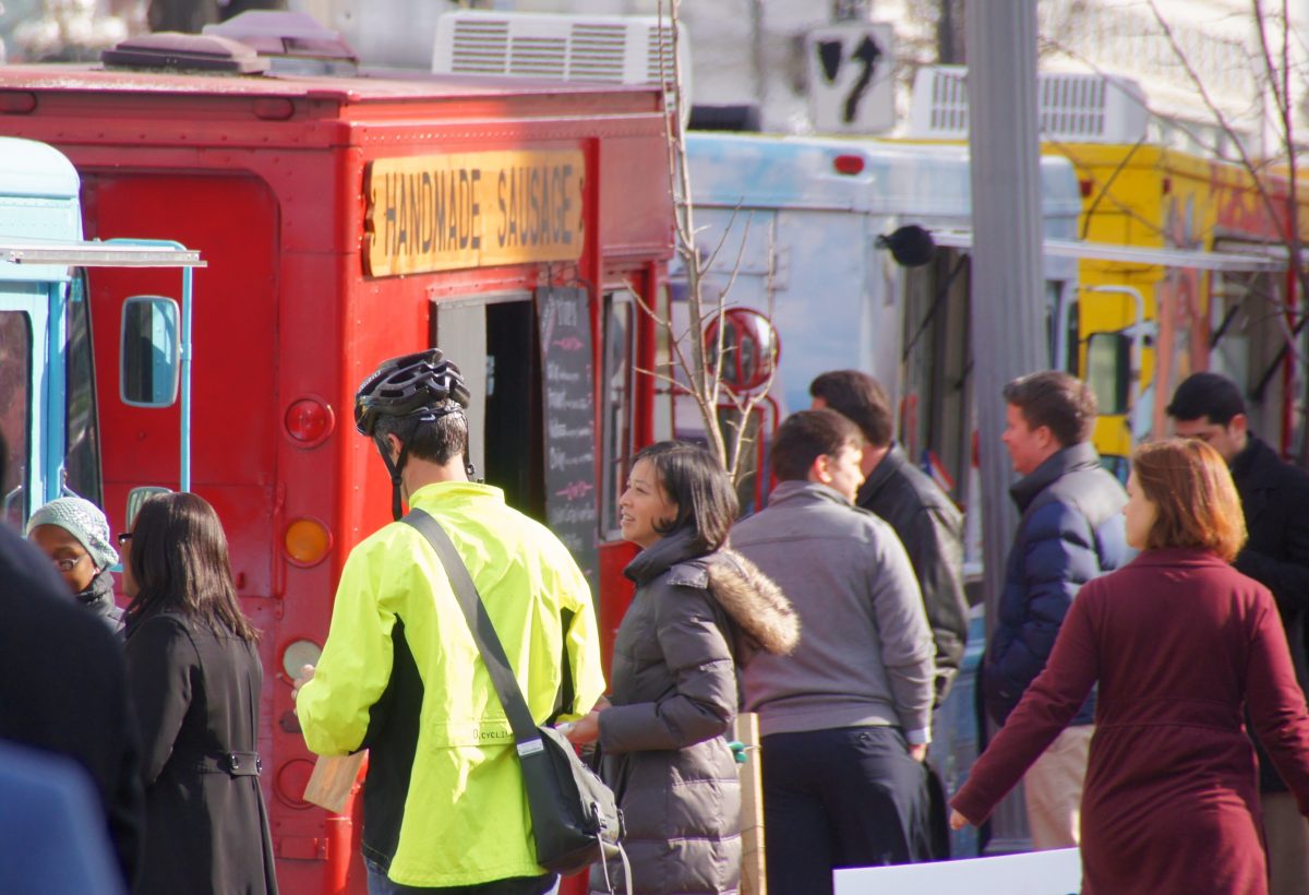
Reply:
<svg viewBox="0 0 1309 895"><path fill-rule="evenodd" d="M8 448L0 439L0 481ZM72 759L90 774L130 891L144 793L123 647L77 607L50 560L0 524L0 740Z"/></svg>

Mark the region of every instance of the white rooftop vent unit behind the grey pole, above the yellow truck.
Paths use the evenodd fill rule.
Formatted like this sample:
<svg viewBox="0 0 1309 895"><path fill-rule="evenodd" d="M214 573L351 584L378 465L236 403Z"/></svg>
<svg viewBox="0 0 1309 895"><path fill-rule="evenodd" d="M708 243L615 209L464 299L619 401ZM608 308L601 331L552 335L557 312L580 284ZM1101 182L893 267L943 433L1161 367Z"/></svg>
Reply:
<svg viewBox="0 0 1309 895"><path fill-rule="evenodd" d="M908 135L963 140L969 135L969 69L920 68L914 79ZM1118 75L1039 75L1041 136L1068 143L1136 143L1145 136L1149 109L1140 85Z"/></svg>

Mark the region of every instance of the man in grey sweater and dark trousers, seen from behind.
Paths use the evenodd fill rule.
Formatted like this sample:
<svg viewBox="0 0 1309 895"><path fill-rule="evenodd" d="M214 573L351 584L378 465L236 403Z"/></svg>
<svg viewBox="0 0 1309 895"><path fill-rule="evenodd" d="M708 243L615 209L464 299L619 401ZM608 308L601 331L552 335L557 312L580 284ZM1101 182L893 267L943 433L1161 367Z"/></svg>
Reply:
<svg viewBox="0 0 1309 895"><path fill-rule="evenodd" d="M772 443L767 508L732 529L800 613L795 653L742 675L775 892L830 892L834 867L931 856L932 632L894 531L853 505L861 443L834 410L793 414Z"/></svg>

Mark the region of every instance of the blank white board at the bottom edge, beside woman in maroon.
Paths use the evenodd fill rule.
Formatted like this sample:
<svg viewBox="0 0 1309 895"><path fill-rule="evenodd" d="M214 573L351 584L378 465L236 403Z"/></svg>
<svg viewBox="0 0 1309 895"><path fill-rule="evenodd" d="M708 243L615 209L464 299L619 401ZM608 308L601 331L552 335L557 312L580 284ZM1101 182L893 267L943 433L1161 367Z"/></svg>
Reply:
<svg viewBox="0 0 1309 895"><path fill-rule="evenodd" d="M996 858L855 867L833 874L835 895L1071 895L1081 891L1075 848Z"/></svg>

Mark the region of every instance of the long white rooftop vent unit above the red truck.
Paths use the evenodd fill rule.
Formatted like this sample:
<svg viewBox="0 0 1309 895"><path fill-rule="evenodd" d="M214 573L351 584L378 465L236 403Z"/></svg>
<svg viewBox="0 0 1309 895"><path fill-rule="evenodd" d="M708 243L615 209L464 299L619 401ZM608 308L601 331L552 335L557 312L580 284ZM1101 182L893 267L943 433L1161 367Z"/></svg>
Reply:
<svg viewBox="0 0 1309 895"><path fill-rule="evenodd" d="M683 29L681 47L689 39ZM682 60L690 96L685 50ZM449 12L436 24L432 71L657 85L673 80L673 34L656 16Z"/></svg>

